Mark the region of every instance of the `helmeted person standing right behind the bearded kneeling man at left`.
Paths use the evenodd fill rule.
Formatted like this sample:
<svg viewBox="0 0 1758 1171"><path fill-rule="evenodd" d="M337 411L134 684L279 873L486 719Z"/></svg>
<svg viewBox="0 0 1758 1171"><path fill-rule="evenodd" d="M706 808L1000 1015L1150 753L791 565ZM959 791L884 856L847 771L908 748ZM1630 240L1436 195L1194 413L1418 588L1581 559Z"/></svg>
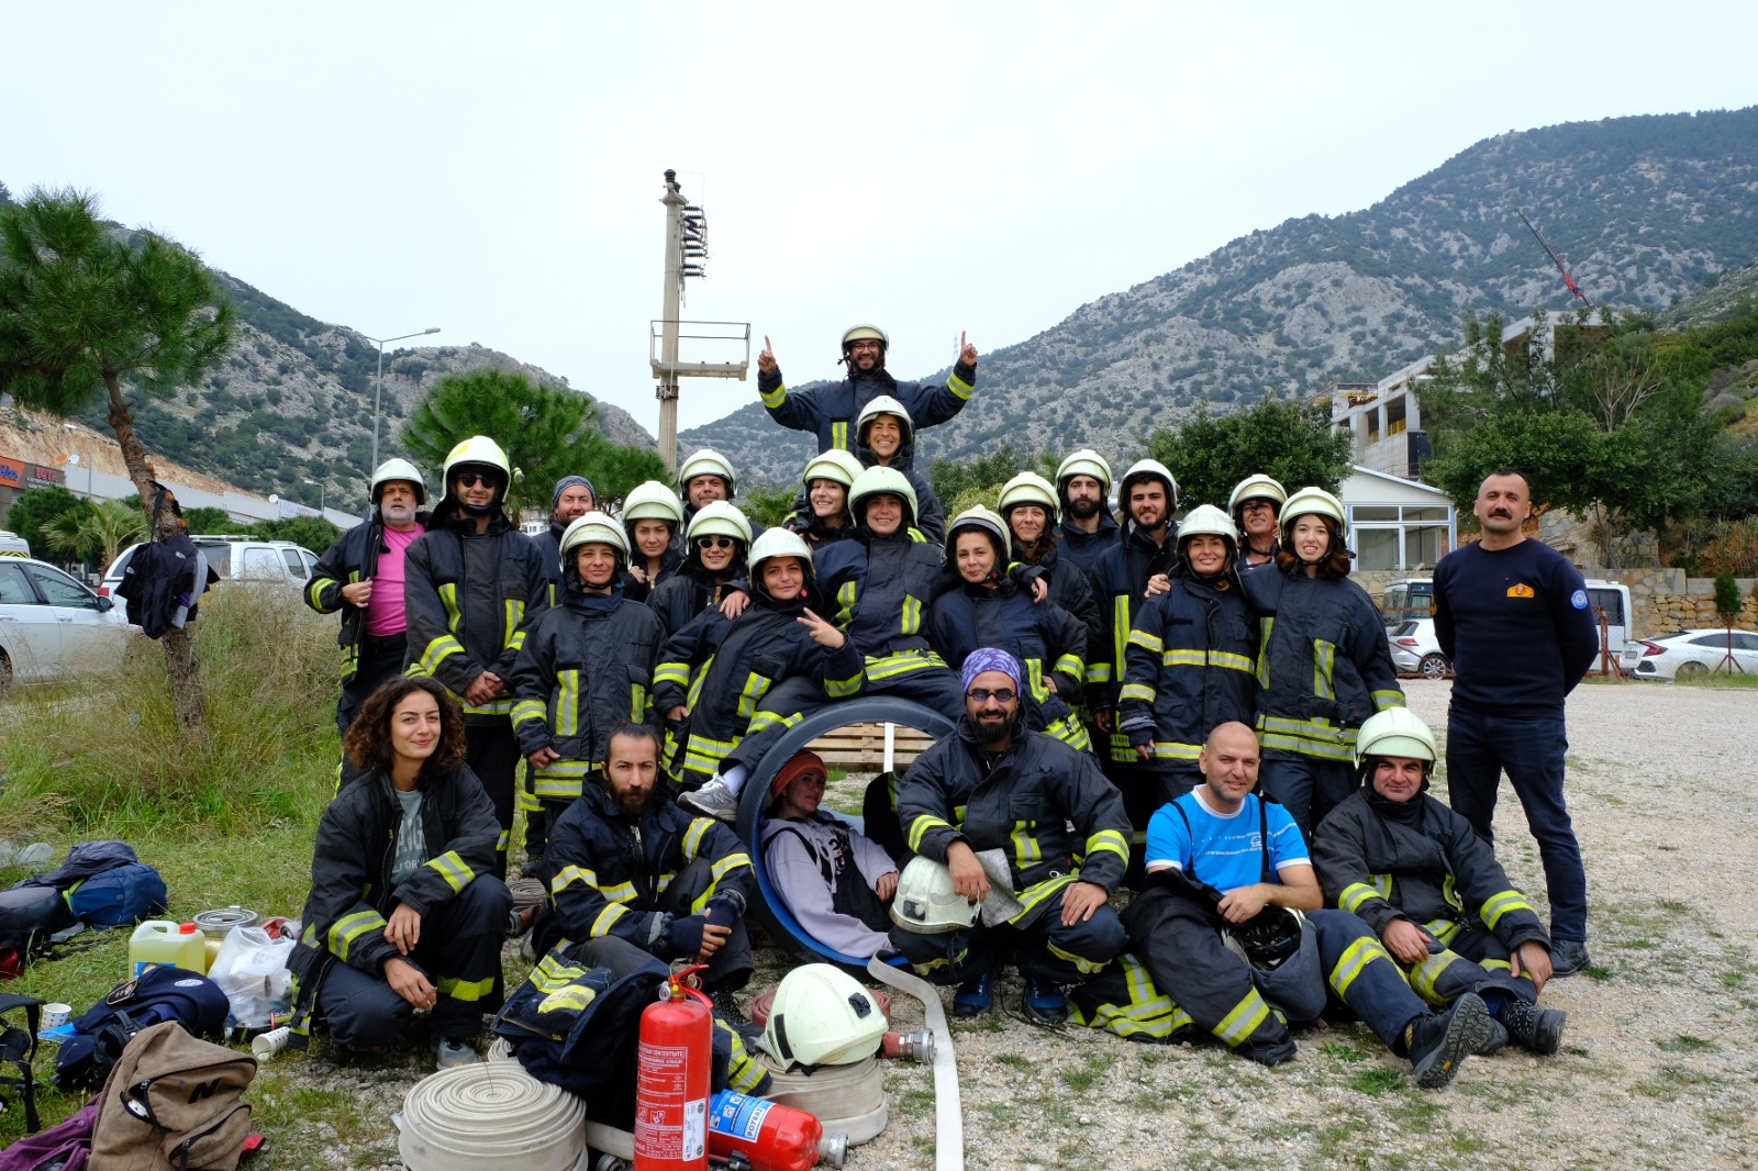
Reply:
<svg viewBox="0 0 1758 1171"><path fill-rule="evenodd" d="M526 631L512 675L513 735L531 765L533 804L548 825L603 767L615 726L656 723L649 696L663 640L654 612L617 586L629 547L614 519L601 512L577 519L557 556L559 601ZM541 855L527 837L526 870L547 877Z"/></svg>

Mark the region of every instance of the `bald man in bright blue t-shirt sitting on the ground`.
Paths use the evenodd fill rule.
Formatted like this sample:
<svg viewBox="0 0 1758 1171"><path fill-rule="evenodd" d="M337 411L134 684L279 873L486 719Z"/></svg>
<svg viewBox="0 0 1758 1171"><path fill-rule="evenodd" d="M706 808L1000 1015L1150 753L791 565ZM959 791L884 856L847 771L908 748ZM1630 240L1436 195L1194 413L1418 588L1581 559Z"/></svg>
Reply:
<svg viewBox="0 0 1758 1171"><path fill-rule="evenodd" d="M1153 983L1201 1029L1266 1066L1296 1053L1283 1018L1315 1020L1329 988L1410 1058L1417 1085L1452 1081L1459 1062L1498 1032L1484 1000L1466 993L1445 1013L1431 1011L1366 923L1320 909L1299 826L1253 793L1259 746L1246 724L1215 728L1197 765L1204 782L1148 823L1148 881L1123 916ZM1236 928L1289 920L1287 911L1304 914L1299 948L1273 967L1229 946Z"/></svg>

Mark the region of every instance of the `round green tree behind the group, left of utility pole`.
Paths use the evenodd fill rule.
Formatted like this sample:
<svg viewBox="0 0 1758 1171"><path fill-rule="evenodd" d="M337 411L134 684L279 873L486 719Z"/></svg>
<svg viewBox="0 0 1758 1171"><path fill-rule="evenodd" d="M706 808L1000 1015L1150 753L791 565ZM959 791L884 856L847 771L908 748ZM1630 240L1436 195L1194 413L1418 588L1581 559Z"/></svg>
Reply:
<svg viewBox="0 0 1758 1171"><path fill-rule="evenodd" d="M441 468L461 441L489 436L522 473L506 492L506 508L517 515L520 508L548 506L556 480L591 478L585 469L594 455L612 447L594 418L592 399L578 390L541 387L519 371L473 369L434 382L403 424L403 443L418 461Z"/></svg>

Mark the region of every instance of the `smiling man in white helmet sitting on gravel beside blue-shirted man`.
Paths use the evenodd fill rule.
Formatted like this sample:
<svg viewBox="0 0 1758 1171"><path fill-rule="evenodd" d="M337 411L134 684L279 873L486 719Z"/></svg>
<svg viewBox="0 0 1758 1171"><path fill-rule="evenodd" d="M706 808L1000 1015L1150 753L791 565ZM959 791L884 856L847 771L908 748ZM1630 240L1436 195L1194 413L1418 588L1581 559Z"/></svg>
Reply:
<svg viewBox="0 0 1758 1171"><path fill-rule="evenodd" d="M1427 791L1435 733L1405 707L1355 738L1364 788L1313 839L1326 902L1361 916L1429 1004L1484 999L1508 1039L1556 1053L1566 1015L1540 1009L1551 935L1489 842Z"/></svg>

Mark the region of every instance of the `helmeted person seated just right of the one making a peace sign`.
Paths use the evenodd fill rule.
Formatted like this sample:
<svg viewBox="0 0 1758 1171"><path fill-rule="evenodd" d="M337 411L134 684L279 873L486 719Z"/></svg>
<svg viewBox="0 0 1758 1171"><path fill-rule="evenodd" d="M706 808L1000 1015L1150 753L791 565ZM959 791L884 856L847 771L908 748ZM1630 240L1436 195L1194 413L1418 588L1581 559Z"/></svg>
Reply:
<svg viewBox="0 0 1758 1171"><path fill-rule="evenodd" d="M893 468L868 468L849 491L854 538L814 556L825 605L865 663L867 695L916 700L948 719L963 687L928 645L928 605L941 580L941 547L916 529L916 492Z"/></svg>

